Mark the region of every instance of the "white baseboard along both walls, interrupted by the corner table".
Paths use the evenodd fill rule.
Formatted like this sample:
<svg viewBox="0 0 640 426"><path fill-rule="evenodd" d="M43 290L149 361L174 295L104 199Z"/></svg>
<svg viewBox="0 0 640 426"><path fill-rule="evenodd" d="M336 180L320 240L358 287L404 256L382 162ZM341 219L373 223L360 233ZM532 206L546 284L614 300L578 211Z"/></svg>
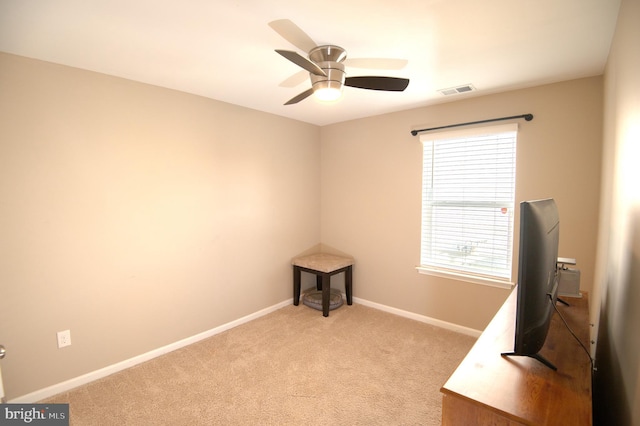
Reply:
<svg viewBox="0 0 640 426"><path fill-rule="evenodd" d="M353 298L354 303L359 303L364 306L368 306L370 308L378 309L380 311L388 312L390 314L398 315L401 317L413 319L416 321L420 321L426 324L431 324L436 327L442 327L447 330L455 331L458 333L466 334L473 337L479 337L482 333L479 330L474 330L472 328L463 327L457 324L453 324L446 321L441 321L435 318L430 318L424 315L416 314L409 311L404 311L402 309L393 308L390 306L382 305L380 303L370 302L365 299L360 299L358 297ZM230 330L234 327L237 327L241 324L247 323L254 319L260 318L271 312L277 311L278 309L284 308L285 306L291 305L291 299L287 299L280 303L277 303L268 308L262 309L258 312L254 312L253 314L249 314L242 318L239 318L235 321L228 322L219 327L212 328L211 330L204 331L202 333L196 334L191 337L187 337L186 339L179 340L177 342L171 343L166 346L162 346L160 348L154 349L152 351L146 352L144 354L135 356L133 358L126 359L124 361L118 362L116 364L109 365L107 367L101 368L99 370L92 371L87 374L83 374L82 376L74 377L73 379L66 380L61 383L57 383L55 385L46 387L44 389L39 389L35 392L19 396L14 398L9 403L22 403L22 404L31 404L38 401L42 401L43 399L50 398L54 395L57 395L62 392L69 391L78 386L93 382L94 380L101 379L103 377L109 376L111 374L117 373L119 371L125 370L127 368L133 367L135 365L141 364L143 362L149 361L153 358L159 357L166 353L175 351L176 349L183 348L185 346L191 345L193 343L199 342L200 340L204 340L208 337L214 336L216 334L222 333L223 331Z"/></svg>

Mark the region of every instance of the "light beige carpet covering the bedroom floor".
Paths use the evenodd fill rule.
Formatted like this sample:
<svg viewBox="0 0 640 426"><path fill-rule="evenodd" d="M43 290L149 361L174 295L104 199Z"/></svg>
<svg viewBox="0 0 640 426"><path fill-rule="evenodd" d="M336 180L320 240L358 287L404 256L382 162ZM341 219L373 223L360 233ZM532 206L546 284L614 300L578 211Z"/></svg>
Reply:
<svg viewBox="0 0 640 426"><path fill-rule="evenodd" d="M439 425L475 338L354 304L287 306L62 393L72 425Z"/></svg>

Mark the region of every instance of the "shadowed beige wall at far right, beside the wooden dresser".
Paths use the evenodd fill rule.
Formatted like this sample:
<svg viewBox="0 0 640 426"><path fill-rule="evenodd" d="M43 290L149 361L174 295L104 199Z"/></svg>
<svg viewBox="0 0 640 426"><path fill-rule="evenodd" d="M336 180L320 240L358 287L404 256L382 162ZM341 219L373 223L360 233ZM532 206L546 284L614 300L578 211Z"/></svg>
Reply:
<svg viewBox="0 0 640 426"><path fill-rule="evenodd" d="M605 71L594 422L640 425L640 1L623 0Z"/></svg>

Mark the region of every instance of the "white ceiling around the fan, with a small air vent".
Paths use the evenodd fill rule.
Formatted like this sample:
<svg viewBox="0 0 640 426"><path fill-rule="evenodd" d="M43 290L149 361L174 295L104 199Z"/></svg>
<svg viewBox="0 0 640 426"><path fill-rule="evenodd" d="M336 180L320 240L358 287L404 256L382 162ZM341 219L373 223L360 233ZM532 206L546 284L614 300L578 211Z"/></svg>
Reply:
<svg viewBox="0 0 640 426"><path fill-rule="evenodd" d="M326 125L462 97L599 75L620 0L0 0L0 51ZM268 25L290 19L349 58L408 60L348 76L411 80L404 92L346 87L336 103L280 84L297 50ZM299 50L297 50L299 51ZM300 52L300 51L299 51ZM300 52L303 53L304 52ZM473 84L445 97L439 89Z"/></svg>

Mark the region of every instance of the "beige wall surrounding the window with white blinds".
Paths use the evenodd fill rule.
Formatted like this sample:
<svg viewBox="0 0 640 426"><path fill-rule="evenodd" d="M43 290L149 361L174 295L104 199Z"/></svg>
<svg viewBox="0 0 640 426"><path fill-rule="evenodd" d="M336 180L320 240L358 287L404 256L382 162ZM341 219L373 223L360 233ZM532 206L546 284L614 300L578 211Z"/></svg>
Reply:
<svg viewBox="0 0 640 426"><path fill-rule="evenodd" d="M516 201L556 199L560 255L578 260L581 287L592 289L602 149L601 77L323 127L322 241L355 257L355 296L477 330L487 325L508 290L415 270L420 251L422 146L410 131L524 113L535 118L519 121ZM517 220L518 216L516 227ZM516 240L516 253L517 247Z"/></svg>

